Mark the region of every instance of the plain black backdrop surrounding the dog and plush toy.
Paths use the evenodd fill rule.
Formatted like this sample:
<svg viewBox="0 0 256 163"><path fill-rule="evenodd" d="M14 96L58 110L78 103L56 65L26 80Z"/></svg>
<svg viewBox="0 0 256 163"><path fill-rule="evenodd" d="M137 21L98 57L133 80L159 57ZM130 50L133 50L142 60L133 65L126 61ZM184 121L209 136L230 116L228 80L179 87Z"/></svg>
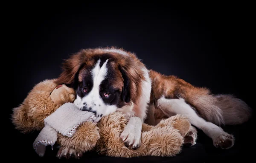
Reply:
<svg viewBox="0 0 256 163"><path fill-rule="evenodd" d="M12 70L8 71L10 77L4 80L12 101L5 109L9 119L8 138L12 142L7 144L8 158L38 158L32 149L38 133L23 135L13 129L10 122L12 108L22 103L35 84L57 78L63 59L81 48L116 46L133 51L150 69L176 75L195 86L208 87L213 93L234 94L254 109L255 52L251 49L255 45L251 32L254 21L251 5L183 5L123 3L99 6L84 3L78 6L34 4L32 7L16 4L11 7L9 17L5 18L8 30L3 31L7 34L6 42L11 45L3 54L9 58L6 70ZM82 160L247 159L253 150L249 147L253 148L254 143L250 127L246 124L227 128L237 139L230 150L215 149L211 140L199 131L198 144L185 148L173 158L117 159L88 153ZM48 155L39 160L56 161L55 153L50 149Z"/></svg>

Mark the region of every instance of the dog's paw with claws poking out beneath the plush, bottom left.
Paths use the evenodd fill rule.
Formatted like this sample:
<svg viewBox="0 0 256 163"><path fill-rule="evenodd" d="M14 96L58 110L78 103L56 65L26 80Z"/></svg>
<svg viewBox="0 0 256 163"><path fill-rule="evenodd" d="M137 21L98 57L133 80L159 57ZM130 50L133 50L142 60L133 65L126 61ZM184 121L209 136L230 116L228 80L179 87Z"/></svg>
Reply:
<svg viewBox="0 0 256 163"><path fill-rule="evenodd" d="M73 148L68 148L68 147L65 147L65 146L62 146L59 150L58 150L58 154L57 154L57 157L59 159L65 157L67 159L69 158L76 158L76 159L79 159L81 158L83 155L82 152L77 152L76 149L73 149Z"/></svg>

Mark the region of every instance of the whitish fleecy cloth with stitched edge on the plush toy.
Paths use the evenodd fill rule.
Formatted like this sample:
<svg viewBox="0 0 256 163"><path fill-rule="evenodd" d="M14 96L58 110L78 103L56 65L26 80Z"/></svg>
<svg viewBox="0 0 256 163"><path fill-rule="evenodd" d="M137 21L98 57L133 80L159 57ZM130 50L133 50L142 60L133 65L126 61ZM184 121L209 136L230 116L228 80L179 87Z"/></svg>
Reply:
<svg viewBox="0 0 256 163"><path fill-rule="evenodd" d="M44 156L46 146L53 146L57 141L58 132L72 137L76 129L86 121L95 119L93 112L81 111L73 103L65 103L44 119L44 128L33 143L39 156Z"/></svg>

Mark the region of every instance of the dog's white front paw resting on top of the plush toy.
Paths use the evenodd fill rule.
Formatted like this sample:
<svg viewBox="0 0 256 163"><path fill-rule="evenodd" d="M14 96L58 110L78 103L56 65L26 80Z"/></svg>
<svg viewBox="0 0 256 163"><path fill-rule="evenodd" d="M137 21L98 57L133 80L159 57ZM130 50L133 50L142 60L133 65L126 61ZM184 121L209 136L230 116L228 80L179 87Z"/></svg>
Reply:
<svg viewBox="0 0 256 163"><path fill-rule="evenodd" d="M126 147L130 149L137 149L141 145L140 135L141 132L138 129L125 128L120 135L120 138L125 143Z"/></svg>

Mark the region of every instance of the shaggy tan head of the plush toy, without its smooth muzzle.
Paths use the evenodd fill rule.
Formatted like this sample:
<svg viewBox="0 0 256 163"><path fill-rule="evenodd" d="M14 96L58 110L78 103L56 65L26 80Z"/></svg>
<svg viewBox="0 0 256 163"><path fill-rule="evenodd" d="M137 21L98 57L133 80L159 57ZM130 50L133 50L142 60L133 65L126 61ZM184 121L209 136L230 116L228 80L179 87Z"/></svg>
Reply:
<svg viewBox="0 0 256 163"><path fill-rule="evenodd" d="M43 129L44 118L57 108L50 98L55 87L57 84L53 79L44 80L33 87L22 104L13 109L12 123L16 129L23 133Z"/></svg>

